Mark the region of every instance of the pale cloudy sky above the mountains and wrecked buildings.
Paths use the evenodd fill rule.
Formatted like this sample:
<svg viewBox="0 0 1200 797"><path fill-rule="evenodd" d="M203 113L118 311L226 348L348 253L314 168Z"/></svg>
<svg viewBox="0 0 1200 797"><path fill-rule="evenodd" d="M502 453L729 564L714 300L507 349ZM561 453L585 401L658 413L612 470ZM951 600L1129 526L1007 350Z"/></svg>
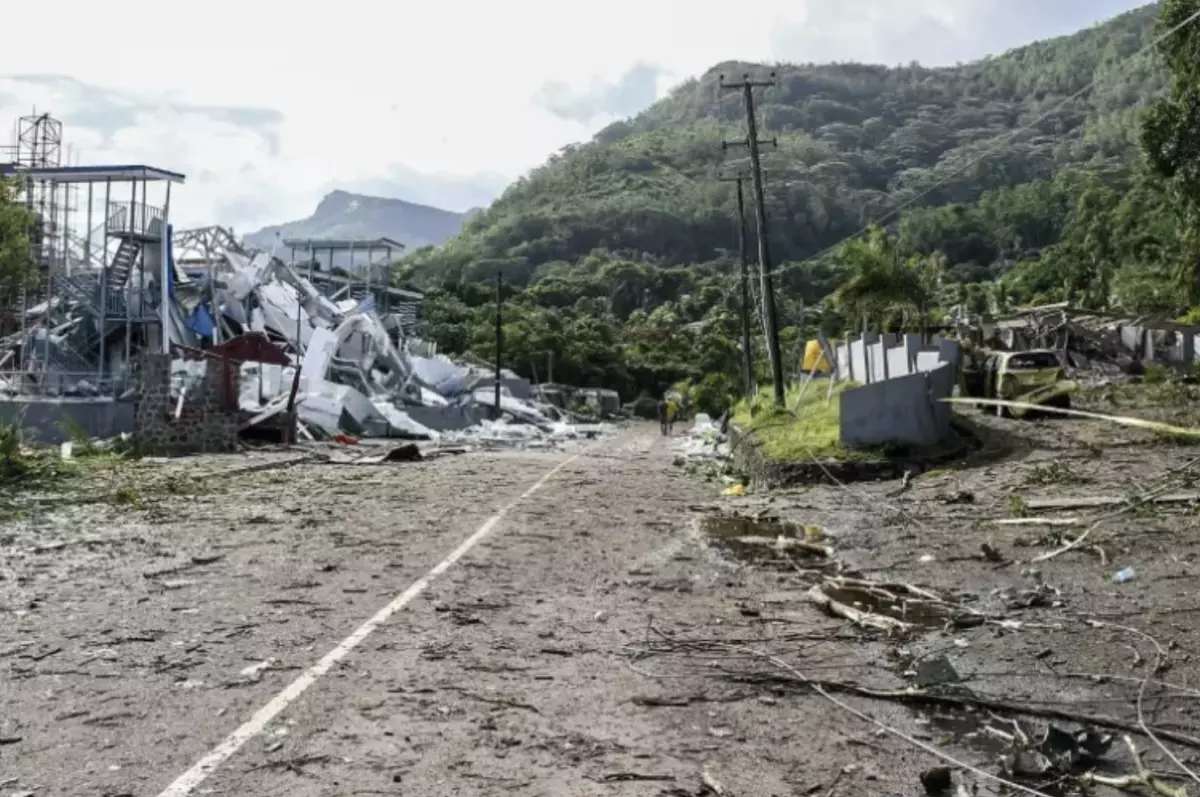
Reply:
<svg viewBox="0 0 1200 797"><path fill-rule="evenodd" d="M0 144L36 107L62 120L72 162L185 173L178 227L248 233L310 215L334 188L486 205L564 145L721 61L954 64L1144 2L10 5L5 28L22 32L0 47Z"/></svg>

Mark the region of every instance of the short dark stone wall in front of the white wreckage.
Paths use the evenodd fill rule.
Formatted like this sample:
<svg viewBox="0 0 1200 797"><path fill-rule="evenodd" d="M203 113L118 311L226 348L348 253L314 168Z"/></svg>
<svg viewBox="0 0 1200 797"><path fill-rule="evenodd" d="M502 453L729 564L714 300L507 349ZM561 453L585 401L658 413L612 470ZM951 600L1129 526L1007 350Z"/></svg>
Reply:
<svg viewBox="0 0 1200 797"><path fill-rule="evenodd" d="M143 454L179 456L238 450L240 418L236 398L227 408L221 388L221 367L208 361L205 376L184 398L175 418L170 396L170 356L145 354L136 362L138 397L133 406L133 441ZM233 368L233 396L238 395L238 368Z"/></svg>

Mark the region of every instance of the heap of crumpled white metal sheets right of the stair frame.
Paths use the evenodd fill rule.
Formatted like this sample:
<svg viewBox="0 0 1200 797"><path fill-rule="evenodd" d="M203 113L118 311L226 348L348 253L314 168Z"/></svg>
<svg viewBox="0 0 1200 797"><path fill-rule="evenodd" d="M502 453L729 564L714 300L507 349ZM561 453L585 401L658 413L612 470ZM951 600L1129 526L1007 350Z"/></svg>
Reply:
<svg viewBox="0 0 1200 797"><path fill-rule="evenodd" d="M230 332L265 332L299 359L295 409L308 435L529 442L596 432L564 423L510 371L500 373L502 414L493 419L494 371L438 354L412 335L401 313L377 313L370 294L330 299L264 252L226 248L222 265L210 288L221 323ZM241 370L239 405L252 414L251 425L287 409L295 362L245 362ZM181 380L194 378L180 371Z"/></svg>

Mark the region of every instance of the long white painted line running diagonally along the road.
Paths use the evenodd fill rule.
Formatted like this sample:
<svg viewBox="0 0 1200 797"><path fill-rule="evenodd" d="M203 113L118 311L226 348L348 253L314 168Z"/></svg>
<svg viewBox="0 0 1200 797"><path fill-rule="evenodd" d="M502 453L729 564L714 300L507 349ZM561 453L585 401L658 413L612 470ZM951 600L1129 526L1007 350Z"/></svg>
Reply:
<svg viewBox="0 0 1200 797"><path fill-rule="evenodd" d="M409 601L413 600L413 598L416 598L419 594L425 592L434 579L449 570L455 562L466 556L470 549L475 547L475 545L478 545L484 538L491 534L514 507L541 490L546 483L554 477L554 474L582 455L583 451L580 451L578 454L574 454L566 460L563 460L551 468L546 475L538 479L532 487L521 493L520 497L502 507L500 510L488 517L474 534L468 537L458 547L451 551L450 556L438 562L432 570L416 580L413 586L400 593L390 604L376 612L374 617L362 623L362 625L360 625L353 634L338 642L337 647L322 657L317 664L305 670L304 673L288 684L283 691L277 694L270 700L269 703L254 712L254 715L246 720L241 727L227 736L221 744L212 748L212 750L197 761L191 769L181 774L173 784L163 789L158 797L185 797L185 795L190 795L204 781L205 778L212 774L217 767L233 756L233 754L236 753L242 744L262 733L266 725L272 719L278 717L280 713L290 706L300 695L302 695L308 687L316 683L317 678L329 672L332 666L344 659L347 654L349 654L349 652L359 645L359 642L371 636L371 634L383 625L389 617L403 609Z"/></svg>

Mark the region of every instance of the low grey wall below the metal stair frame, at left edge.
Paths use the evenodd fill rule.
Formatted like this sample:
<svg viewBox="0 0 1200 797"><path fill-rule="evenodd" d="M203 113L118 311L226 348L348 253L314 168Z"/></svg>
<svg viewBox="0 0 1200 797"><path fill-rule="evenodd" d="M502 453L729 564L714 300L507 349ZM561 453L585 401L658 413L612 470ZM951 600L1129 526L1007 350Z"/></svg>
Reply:
<svg viewBox="0 0 1200 797"><path fill-rule="evenodd" d="M133 403L113 398L5 398L0 424L20 424L31 443L71 439L71 426L90 437L108 438L133 431Z"/></svg>

